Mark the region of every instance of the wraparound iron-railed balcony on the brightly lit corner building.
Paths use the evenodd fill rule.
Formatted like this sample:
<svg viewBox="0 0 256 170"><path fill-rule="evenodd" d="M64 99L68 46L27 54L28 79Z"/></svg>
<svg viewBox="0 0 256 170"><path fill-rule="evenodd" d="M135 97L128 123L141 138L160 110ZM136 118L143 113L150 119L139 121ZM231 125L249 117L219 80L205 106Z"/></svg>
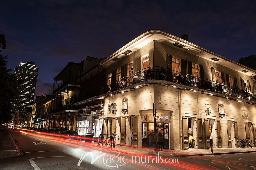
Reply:
<svg viewBox="0 0 256 170"><path fill-rule="evenodd" d="M114 83L112 82L111 84L108 84L105 88L103 88L102 94L110 93L119 89L129 87L133 84L148 80L169 81L177 84L176 86L179 86L180 84L190 90L193 88L197 88L218 93L220 96L225 95L228 98L231 98L231 100L233 97L236 97L256 102L255 93L247 92L242 89L234 88L211 80L202 79L200 77L184 74L178 71L169 71L163 67L143 69L124 78L116 80Z"/></svg>

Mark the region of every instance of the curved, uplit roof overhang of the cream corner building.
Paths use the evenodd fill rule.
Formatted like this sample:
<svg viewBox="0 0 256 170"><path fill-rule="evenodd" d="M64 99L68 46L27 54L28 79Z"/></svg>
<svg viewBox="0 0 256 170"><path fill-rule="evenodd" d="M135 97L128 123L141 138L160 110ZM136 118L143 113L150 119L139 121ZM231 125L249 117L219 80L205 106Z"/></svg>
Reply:
<svg viewBox="0 0 256 170"><path fill-rule="evenodd" d="M100 65L102 65L105 68L109 67L112 64L114 64L115 62L117 62L117 61L113 61L114 58L118 57L118 58L122 59L122 58L126 57L127 55L130 55L133 52L139 50L140 48L144 47L145 45L147 45L148 43L150 43L154 40L164 43L164 44L167 44L167 45L170 45L174 48L177 48L177 49L185 51L185 52L188 50L188 48L190 46L189 51L188 51L188 53L190 53L190 54L205 58L211 62L214 62L214 63L220 64L222 66L231 68L233 70L239 71L248 76L256 75L256 71L247 66L244 66L238 62L235 62L231 59L223 57L217 53L209 51L203 47L200 47L196 44L193 44L184 39L181 39L179 37L176 37L174 35L168 34L164 31L160 31L160 30L151 30L151 31L147 31L147 32L141 34L140 36L138 36L131 42L124 45L118 51L114 52L109 57L106 57L104 60L102 60L102 62L100 62ZM173 44L176 42L184 45L185 47L179 48L179 47L174 46ZM126 50L131 50L132 52L127 55L122 54ZM213 58L213 57L218 58L219 60L218 61L211 60L210 58ZM248 72L244 73L241 70L246 70Z"/></svg>

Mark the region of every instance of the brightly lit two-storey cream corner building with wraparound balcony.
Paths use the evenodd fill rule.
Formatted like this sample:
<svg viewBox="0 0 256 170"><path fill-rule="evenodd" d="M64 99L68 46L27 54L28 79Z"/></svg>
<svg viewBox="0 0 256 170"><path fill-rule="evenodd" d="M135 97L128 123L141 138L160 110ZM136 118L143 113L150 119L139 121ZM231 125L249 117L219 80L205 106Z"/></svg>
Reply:
<svg viewBox="0 0 256 170"><path fill-rule="evenodd" d="M213 148L239 147L239 139L246 137L256 147L255 70L187 36L159 30L143 33L99 65L106 72L104 90L74 105L102 99L102 134L116 132L117 144L147 147L154 103L165 149L190 149L188 134L197 149L210 148L210 136Z"/></svg>

